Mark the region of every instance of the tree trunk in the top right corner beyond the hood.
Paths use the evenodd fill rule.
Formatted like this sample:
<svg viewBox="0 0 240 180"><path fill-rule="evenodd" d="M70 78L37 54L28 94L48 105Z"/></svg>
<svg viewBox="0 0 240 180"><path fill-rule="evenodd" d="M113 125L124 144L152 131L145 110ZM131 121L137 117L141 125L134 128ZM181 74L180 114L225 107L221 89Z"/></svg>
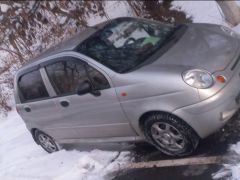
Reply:
<svg viewBox="0 0 240 180"><path fill-rule="evenodd" d="M240 23L240 8L235 1L231 0L216 0L220 6L225 20L233 26Z"/></svg>

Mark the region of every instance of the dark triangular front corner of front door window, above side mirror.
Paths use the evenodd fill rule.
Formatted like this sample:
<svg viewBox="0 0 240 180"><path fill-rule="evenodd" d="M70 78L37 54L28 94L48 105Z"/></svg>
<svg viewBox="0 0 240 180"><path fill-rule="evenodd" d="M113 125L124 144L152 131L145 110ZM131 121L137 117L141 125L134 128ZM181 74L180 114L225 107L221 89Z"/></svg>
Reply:
<svg viewBox="0 0 240 180"><path fill-rule="evenodd" d="M110 88L107 79L96 69L88 66L87 71L96 90Z"/></svg>

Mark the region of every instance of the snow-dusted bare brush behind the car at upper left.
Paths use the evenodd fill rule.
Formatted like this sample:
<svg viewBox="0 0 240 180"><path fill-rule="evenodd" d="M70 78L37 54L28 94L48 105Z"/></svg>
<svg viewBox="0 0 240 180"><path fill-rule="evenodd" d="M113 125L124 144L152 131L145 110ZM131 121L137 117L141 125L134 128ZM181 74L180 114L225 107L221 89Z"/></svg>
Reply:
<svg viewBox="0 0 240 180"><path fill-rule="evenodd" d="M2 1L0 8L0 113L9 111L14 72L28 59L106 17L105 1Z"/></svg>

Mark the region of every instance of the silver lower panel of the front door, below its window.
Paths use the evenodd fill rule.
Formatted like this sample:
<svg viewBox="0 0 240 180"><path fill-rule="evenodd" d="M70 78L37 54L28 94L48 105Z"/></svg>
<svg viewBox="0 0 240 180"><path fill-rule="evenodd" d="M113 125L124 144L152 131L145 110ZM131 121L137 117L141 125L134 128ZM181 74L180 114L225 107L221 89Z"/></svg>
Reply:
<svg viewBox="0 0 240 180"><path fill-rule="evenodd" d="M69 102L68 107L59 107L61 120L49 124L48 131L57 131L61 128L74 130L77 136L73 138L103 138L134 136L113 88L101 90L101 96L92 94L69 95L54 98L57 104L61 101ZM99 133L104 132L104 133ZM59 131L57 139L62 138ZM67 139L67 138L64 138Z"/></svg>

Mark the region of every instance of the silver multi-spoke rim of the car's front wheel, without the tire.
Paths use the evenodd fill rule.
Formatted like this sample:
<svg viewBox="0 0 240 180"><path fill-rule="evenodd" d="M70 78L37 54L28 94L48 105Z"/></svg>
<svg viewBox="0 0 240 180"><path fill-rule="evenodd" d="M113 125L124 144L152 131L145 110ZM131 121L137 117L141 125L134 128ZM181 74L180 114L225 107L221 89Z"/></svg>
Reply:
<svg viewBox="0 0 240 180"><path fill-rule="evenodd" d="M172 125L156 122L151 127L152 137L155 142L164 149L181 151L185 147L183 135Z"/></svg>

